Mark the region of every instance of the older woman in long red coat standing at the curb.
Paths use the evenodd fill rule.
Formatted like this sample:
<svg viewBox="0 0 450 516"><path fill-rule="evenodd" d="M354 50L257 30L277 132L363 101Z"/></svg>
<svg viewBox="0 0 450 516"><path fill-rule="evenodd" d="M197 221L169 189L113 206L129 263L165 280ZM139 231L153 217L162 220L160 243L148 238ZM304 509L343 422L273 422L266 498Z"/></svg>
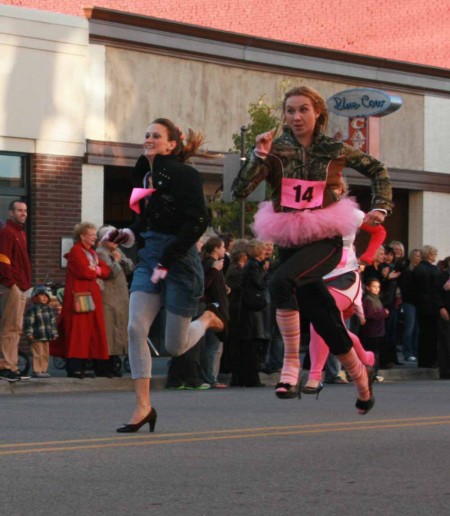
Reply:
<svg viewBox="0 0 450 516"><path fill-rule="evenodd" d="M64 255L67 259L66 285L60 316L63 329L67 376L84 378L87 359L94 359L98 376L104 375L108 360L105 321L99 282L110 275L111 269L94 250L97 228L90 222L81 222L74 229L74 246ZM101 284L101 281L100 281ZM90 292L95 309L77 313L74 310L74 293Z"/></svg>

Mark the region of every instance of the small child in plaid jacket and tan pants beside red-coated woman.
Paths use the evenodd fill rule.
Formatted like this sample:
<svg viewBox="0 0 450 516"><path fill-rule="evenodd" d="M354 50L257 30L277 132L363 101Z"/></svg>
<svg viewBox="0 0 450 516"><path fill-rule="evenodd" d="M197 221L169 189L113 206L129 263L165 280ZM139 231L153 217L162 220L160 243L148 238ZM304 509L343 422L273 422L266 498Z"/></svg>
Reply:
<svg viewBox="0 0 450 516"><path fill-rule="evenodd" d="M33 356L33 376L48 378L49 341L58 336L56 318L49 305L50 296L44 286L34 289L25 315L24 331Z"/></svg>

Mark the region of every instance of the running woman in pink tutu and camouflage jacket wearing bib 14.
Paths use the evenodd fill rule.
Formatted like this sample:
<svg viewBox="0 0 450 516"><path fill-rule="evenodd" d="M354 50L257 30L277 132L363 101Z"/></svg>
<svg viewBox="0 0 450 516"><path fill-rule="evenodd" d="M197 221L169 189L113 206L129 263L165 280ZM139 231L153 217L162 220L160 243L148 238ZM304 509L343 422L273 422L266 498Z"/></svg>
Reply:
<svg viewBox="0 0 450 516"><path fill-rule="evenodd" d="M279 398L299 391L301 311L348 371L358 392L356 408L366 414L374 405L374 371L358 359L352 340L323 276L342 258L342 237L356 232L357 205L336 193L344 167L365 175L372 183L372 211L366 222L381 224L392 209L386 168L375 158L325 136L328 111L323 97L301 86L283 100L283 127L261 134L236 178L236 198L247 197L261 181L271 187L271 201L261 204L254 231L261 240L279 246L281 264L271 281L278 327L284 341Z"/></svg>

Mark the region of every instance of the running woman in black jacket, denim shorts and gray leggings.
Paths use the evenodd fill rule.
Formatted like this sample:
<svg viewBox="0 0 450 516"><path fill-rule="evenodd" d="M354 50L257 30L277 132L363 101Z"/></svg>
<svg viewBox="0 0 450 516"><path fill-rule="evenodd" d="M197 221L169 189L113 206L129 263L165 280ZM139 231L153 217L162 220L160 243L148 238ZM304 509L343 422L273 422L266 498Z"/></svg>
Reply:
<svg viewBox="0 0 450 516"><path fill-rule="evenodd" d="M219 312L206 310L195 321L203 294L203 270L196 242L208 226L208 213L197 170L185 162L203 143L203 135L157 118L147 128L144 154L132 181L130 206L139 212L131 228L106 234L105 240L131 247L143 239L133 274L128 323L129 358L136 406L118 432L136 432L156 411L150 403L151 354L147 336L158 312L166 309L165 347L174 356L192 348L208 328L224 330Z"/></svg>

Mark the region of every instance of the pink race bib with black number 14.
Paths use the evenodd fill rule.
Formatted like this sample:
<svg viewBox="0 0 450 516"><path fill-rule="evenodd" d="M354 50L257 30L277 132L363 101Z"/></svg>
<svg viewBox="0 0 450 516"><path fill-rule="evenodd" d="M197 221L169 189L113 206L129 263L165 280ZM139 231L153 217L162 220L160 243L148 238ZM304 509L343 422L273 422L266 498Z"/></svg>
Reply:
<svg viewBox="0 0 450 516"><path fill-rule="evenodd" d="M296 210L320 208L326 181L283 178L281 180L281 206Z"/></svg>

